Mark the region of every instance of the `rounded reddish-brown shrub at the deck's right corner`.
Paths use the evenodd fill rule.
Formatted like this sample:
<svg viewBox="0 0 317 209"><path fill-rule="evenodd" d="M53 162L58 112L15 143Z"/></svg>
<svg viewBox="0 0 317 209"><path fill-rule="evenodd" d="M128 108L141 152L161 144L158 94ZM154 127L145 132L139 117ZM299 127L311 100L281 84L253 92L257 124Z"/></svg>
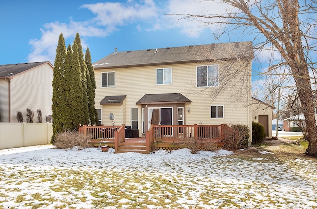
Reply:
<svg viewBox="0 0 317 209"><path fill-rule="evenodd" d="M229 150L247 147L250 138L250 128L247 125L234 124L225 129L224 144Z"/></svg>

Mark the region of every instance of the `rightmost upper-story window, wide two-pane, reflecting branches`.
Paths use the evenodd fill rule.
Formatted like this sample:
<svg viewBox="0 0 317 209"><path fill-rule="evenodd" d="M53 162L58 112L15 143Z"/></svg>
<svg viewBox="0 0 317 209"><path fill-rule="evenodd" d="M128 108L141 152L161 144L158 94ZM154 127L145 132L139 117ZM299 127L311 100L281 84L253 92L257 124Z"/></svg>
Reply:
<svg viewBox="0 0 317 209"><path fill-rule="evenodd" d="M197 87L218 86L218 65L197 66Z"/></svg>

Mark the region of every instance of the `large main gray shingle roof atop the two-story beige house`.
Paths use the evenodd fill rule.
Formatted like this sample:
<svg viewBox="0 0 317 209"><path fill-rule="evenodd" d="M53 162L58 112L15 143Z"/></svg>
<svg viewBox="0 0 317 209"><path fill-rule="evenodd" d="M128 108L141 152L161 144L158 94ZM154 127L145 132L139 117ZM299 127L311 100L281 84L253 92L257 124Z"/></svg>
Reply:
<svg viewBox="0 0 317 209"><path fill-rule="evenodd" d="M139 51L114 52L93 63L94 68L189 63L212 59L253 58L252 42L213 43Z"/></svg>

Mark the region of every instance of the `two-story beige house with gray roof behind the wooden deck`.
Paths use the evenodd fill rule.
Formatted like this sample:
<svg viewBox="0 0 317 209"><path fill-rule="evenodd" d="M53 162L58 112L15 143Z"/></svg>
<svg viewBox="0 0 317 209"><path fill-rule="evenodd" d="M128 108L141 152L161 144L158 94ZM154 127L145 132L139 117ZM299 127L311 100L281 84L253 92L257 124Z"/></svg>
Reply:
<svg viewBox="0 0 317 209"><path fill-rule="evenodd" d="M252 59L252 42L115 49L93 63L100 124L125 124L136 136L150 124L251 127Z"/></svg>

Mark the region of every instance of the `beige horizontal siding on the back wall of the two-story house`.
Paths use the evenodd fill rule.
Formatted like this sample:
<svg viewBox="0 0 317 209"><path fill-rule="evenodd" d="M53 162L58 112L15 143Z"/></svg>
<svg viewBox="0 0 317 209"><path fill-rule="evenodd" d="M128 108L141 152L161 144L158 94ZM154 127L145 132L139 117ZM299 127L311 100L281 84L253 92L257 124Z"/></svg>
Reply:
<svg viewBox="0 0 317 209"><path fill-rule="evenodd" d="M139 110L141 110L141 105L136 105L136 102L144 94L181 93L192 101L191 104L186 104L184 108L187 125L202 122L205 125L238 123L251 126L251 108L249 107L251 102L250 64L243 67L239 64L231 69L227 69L225 64L218 64L219 72L226 71L227 74L229 74L228 71L233 73L238 70L239 72L238 75L228 79L226 87L221 88L220 93L216 93L220 87L196 87L196 66L202 65L201 63L94 70L97 86L96 108L102 108L100 101L105 96L127 95L126 103L123 107L123 112L126 114L123 123L131 125L131 107L139 107ZM156 68L170 67L172 68L172 84L156 85ZM245 72L241 70L243 68L246 69ZM108 71L115 71L115 87L100 88L101 72ZM224 105L225 115L223 119L211 119L211 105ZM190 108L189 113L187 112L187 107ZM139 127L141 127L141 111L139 111L139 114ZM115 124L117 125L117 122Z"/></svg>

